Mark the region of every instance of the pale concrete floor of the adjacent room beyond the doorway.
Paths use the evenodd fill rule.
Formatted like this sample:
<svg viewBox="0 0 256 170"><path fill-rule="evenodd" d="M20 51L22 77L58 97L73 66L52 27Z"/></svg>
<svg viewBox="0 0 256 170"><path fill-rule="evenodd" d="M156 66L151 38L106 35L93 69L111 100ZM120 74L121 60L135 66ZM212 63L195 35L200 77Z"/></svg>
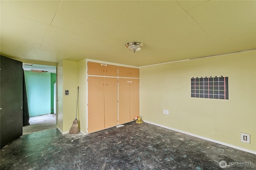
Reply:
<svg viewBox="0 0 256 170"><path fill-rule="evenodd" d="M23 135L56 128L56 115L47 114L30 117L29 123L30 125L22 128Z"/></svg>

